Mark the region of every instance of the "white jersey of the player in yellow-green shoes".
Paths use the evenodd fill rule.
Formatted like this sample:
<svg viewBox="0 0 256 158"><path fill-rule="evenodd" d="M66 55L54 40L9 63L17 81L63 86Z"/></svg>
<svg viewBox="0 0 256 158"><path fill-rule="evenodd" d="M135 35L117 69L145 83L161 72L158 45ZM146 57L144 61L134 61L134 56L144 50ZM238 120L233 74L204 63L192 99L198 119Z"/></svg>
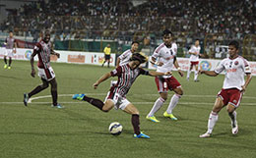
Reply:
<svg viewBox="0 0 256 158"><path fill-rule="evenodd" d="M156 58L159 62L163 63L162 66L158 66L157 72L166 73L170 72L173 67L174 57L177 54L177 44L172 43L171 47L166 47L164 43L158 46L152 57ZM162 76L164 79L170 78L171 76Z"/></svg>

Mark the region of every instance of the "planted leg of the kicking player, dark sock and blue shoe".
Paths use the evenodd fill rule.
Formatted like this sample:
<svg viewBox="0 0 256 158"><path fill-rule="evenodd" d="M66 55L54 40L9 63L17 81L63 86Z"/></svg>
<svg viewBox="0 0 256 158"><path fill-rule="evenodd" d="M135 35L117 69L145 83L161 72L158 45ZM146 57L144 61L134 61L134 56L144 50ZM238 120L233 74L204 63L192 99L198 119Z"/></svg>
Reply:
<svg viewBox="0 0 256 158"><path fill-rule="evenodd" d="M132 115L132 126L134 130L135 138L150 138L149 135L141 132L140 130L140 115L138 109L131 103L129 103L124 109L124 112Z"/></svg>

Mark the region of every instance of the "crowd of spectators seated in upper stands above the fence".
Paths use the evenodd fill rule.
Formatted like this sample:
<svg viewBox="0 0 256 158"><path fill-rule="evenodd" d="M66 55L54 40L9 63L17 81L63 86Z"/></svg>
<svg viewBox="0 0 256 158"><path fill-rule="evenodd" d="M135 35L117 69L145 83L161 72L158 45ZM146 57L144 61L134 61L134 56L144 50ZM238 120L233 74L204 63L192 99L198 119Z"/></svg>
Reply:
<svg viewBox="0 0 256 158"><path fill-rule="evenodd" d="M38 37L50 28L55 38L131 40L144 32L155 38L164 28L178 35L204 37L206 33L241 38L256 31L256 1L252 0L38 0L10 14L0 29Z"/></svg>

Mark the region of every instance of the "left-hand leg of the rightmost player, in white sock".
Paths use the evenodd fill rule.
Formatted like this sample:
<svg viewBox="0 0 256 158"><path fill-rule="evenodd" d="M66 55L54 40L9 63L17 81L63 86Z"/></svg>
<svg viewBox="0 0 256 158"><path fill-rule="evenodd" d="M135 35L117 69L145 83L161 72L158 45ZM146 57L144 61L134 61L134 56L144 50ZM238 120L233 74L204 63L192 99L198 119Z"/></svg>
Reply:
<svg viewBox="0 0 256 158"><path fill-rule="evenodd" d="M219 96L216 98L215 105L213 107L213 111L210 113L209 119L208 119L208 131L206 133L203 133L199 135L199 137L210 137L214 127L218 121L219 118L219 112L223 109L224 107L224 101L223 99Z"/></svg>

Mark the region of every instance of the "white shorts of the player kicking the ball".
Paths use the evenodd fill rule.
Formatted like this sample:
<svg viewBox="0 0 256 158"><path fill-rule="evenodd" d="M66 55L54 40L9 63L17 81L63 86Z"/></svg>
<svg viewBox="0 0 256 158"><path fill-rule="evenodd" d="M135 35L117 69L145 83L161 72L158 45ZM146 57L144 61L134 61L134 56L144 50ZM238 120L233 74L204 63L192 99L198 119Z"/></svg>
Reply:
<svg viewBox="0 0 256 158"><path fill-rule="evenodd" d="M130 101L128 101L125 97L122 97L118 93L110 93L110 91L108 91L105 97L105 101L106 100L111 100L114 103L115 110L124 110L127 107L127 105L130 104Z"/></svg>

